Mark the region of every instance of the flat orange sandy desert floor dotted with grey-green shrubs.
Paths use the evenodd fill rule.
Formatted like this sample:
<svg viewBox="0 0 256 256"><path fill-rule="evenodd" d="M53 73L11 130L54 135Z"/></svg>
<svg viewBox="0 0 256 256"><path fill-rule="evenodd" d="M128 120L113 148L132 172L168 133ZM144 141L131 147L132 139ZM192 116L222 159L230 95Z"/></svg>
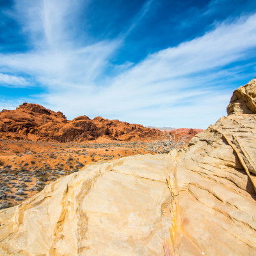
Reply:
<svg viewBox="0 0 256 256"><path fill-rule="evenodd" d="M145 142L50 143L0 140L0 208L19 204L53 180L95 161L149 153Z"/></svg>

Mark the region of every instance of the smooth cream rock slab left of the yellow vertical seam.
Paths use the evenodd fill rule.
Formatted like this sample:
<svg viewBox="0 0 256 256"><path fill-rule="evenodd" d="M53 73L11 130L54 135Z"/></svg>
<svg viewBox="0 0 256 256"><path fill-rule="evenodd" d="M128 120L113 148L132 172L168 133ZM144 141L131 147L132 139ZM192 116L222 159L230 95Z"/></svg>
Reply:
<svg viewBox="0 0 256 256"><path fill-rule="evenodd" d="M0 211L0 255L164 255L168 155L88 166Z"/></svg>

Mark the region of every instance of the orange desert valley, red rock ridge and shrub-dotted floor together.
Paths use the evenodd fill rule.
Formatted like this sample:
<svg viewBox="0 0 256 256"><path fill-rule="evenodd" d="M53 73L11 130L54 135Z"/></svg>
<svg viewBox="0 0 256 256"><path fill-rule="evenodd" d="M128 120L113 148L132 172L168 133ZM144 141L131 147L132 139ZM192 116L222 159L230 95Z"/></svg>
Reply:
<svg viewBox="0 0 256 256"><path fill-rule="evenodd" d="M172 129L186 144L200 129ZM17 205L52 181L83 166L136 154L154 153L152 141L166 132L142 125L79 116L72 121L61 112L24 103L0 113L0 208Z"/></svg>

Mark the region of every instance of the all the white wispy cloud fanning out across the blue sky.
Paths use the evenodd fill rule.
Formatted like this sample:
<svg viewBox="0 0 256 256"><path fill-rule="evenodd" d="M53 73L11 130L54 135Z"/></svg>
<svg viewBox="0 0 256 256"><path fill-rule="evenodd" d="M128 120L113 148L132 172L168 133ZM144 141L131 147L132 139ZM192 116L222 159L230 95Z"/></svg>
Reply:
<svg viewBox="0 0 256 256"><path fill-rule="evenodd" d="M256 15L215 24L203 36L119 67L111 61L125 36L77 44L79 36L68 23L75 22L81 1L73 9L70 0L26 1L26 8L22 3L16 7L31 49L0 54L0 70L33 76L47 88L38 102L68 118L102 115L144 125L205 128L225 115L234 86L245 79L237 79L237 72L255 65L250 59L256 58ZM150 4L145 2L123 35L147 15Z"/></svg>

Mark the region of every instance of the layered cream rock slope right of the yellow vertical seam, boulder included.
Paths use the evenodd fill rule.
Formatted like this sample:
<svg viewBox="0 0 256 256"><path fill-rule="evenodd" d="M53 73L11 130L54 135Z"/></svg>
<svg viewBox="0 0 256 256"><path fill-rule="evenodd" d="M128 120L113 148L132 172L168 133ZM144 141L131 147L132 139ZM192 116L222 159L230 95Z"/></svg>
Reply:
<svg viewBox="0 0 256 256"><path fill-rule="evenodd" d="M229 115L197 134L171 173L170 255L256 255L255 92L255 79L237 89Z"/></svg>

